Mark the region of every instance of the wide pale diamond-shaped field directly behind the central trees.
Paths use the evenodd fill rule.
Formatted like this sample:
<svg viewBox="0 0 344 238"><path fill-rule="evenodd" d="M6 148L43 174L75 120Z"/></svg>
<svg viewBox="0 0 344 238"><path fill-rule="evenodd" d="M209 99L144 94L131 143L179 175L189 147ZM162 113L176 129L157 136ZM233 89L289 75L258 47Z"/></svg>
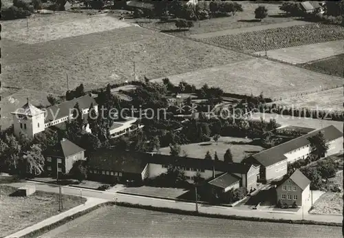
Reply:
<svg viewBox="0 0 344 238"><path fill-rule="evenodd" d="M344 31L343 31L344 32ZM343 78L327 76L306 69L268 61L264 58L251 58L212 67L169 76L171 83L178 85L181 80L202 87L222 87L226 92L235 94L259 95L272 99L290 98L305 92L315 92L322 88L343 84ZM161 81L161 78L156 79ZM321 86L321 87L320 87Z"/></svg>

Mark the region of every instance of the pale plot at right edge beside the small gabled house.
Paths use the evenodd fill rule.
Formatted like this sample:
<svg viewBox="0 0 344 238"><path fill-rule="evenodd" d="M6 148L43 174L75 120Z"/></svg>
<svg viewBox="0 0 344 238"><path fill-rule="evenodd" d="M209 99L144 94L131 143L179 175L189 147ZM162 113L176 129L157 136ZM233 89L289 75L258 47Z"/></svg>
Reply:
<svg viewBox="0 0 344 238"><path fill-rule="evenodd" d="M337 184L343 189L343 171L337 173L336 177L330 178L329 183ZM343 192L326 192L314 203L314 208L310 211L312 214L343 214Z"/></svg>

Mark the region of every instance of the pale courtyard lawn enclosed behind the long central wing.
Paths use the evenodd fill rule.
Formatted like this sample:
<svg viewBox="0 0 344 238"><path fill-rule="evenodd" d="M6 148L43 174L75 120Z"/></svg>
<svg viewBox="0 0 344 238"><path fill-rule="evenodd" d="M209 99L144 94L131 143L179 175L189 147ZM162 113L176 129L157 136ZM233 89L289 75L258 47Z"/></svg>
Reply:
<svg viewBox="0 0 344 238"><path fill-rule="evenodd" d="M242 144L236 144L241 142ZM182 144L180 147L182 151L185 151L188 157L191 158L204 159L206 151L209 151L214 159L216 151L219 160L224 160L224 153L226 153L227 149L230 149L233 155L233 162L241 162L241 160L243 160L246 156L263 150L263 147L249 144L250 142L250 139L245 138L220 137L217 143L211 141L194 144ZM160 152L163 155L169 155L170 151L171 150L169 147L160 149Z"/></svg>

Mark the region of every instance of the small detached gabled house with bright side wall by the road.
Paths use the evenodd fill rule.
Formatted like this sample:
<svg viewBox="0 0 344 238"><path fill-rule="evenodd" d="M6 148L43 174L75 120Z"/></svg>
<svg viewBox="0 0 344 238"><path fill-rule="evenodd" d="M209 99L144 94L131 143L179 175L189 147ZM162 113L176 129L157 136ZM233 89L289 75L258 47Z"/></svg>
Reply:
<svg viewBox="0 0 344 238"><path fill-rule="evenodd" d="M310 199L310 180L299 169L276 188L277 201L292 206L302 206Z"/></svg>

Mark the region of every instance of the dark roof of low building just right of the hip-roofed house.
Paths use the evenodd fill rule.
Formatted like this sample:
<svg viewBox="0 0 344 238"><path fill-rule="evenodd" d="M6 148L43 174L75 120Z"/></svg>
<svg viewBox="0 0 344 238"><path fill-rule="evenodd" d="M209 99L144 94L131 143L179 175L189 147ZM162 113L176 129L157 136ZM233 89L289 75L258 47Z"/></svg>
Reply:
<svg viewBox="0 0 344 238"><path fill-rule="evenodd" d="M92 169L106 171L122 171L125 173L142 173L147 165L145 153L129 151L105 150L92 153L88 157L88 165Z"/></svg>

